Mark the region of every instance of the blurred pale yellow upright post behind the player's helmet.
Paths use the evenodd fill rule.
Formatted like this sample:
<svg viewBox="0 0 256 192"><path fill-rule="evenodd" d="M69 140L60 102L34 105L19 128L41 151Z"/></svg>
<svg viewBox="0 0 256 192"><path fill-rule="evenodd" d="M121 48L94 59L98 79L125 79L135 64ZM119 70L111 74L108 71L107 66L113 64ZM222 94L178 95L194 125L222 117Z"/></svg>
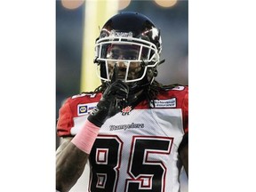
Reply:
<svg viewBox="0 0 256 192"><path fill-rule="evenodd" d="M90 92L100 85L96 76L94 59L95 39L100 35L100 28L106 20L115 15L119 0L86 0L84 4L84 39L81 68L81 92Z"/></svg>

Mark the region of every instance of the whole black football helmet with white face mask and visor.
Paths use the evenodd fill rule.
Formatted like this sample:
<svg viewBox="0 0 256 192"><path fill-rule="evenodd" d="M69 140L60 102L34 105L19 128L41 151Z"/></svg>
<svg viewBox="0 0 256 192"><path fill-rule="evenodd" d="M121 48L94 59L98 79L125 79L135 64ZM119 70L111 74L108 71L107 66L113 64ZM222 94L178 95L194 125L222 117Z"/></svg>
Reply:
<svg viewBox="0 0 256 192"><path fill-rule="evenodd" d="M137 12L121 12L105 23L96 40L97 75L110 82L116 66L118 79L137 89L154 78L148 71L156 70L161 50L160 32L151 20Z"/></svg>

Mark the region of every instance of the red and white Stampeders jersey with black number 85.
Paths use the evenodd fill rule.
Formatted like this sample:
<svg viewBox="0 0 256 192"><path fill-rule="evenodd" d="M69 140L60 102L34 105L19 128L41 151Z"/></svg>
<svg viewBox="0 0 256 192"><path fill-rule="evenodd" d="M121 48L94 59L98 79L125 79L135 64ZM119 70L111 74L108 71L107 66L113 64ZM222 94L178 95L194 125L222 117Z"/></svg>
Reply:
<svg viewBox="0 0 256 192"><path fill-rule="evenodd" d="M101 93L81 94L60 108L59 136L83 126ZM155 108L142 100L123 109L100 128L90 154L89 191L180 191L178 148L188 132L188 87L161 91Z"/></svg>

